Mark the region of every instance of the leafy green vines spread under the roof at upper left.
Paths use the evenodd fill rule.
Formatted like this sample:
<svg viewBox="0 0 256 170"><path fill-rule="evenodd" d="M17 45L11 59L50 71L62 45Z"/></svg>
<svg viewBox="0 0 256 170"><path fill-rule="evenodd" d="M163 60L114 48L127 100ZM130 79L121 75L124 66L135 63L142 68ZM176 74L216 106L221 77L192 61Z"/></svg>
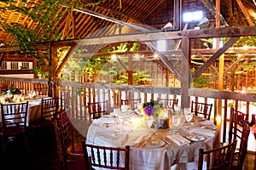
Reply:
<svg viewBox="0 0 256 170"><path fill-rule="evenodd" d="M10 45L19 45L22 52L34 55L34 44L41 42L60 40L61 35L58 34L57 22L66 17L60 8L62 5L71 4L73 8L83 8L84 6L92 6L98 3L81 3L79 0L41 0L41 1L26 1L22 0L0 0L3 7L0 11L11 11L16 14L22 14L33 20L32 25L20 24L16 21L4 20L0 16L0 26L2 31L9 33L13 38L10 38Z"/></svg>

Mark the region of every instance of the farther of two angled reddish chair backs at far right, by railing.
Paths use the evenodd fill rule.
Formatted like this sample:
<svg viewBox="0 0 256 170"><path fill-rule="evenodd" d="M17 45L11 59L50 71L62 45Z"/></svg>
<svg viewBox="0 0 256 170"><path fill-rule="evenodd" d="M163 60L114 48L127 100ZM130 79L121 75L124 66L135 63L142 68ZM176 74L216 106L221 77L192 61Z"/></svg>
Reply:
<svg viewBox="0 0 256 170"><path fill-rule="evenodd" d="M241 111L237 111L233 107L230 109L230 131L229 143L233 139L241 140L243 125L246 122L247 116Z"/></svg>

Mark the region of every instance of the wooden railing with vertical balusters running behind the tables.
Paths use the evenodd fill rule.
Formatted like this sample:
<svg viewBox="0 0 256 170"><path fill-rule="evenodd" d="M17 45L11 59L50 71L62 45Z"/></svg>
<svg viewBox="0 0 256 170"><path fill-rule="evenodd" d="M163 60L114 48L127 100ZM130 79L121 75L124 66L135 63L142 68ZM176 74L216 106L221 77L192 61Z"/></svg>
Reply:
<svg viewBox="0 0 256 170"><path fill-rule="evenodd" d="M120 107L120 99L140 98L142 102L145 102L150 99L168 98L181 101L180 88L64 81L57 84L56 95L62 99L64 105L71 109L73 119L76 120L88 120L90 118L86 110L88 102L108 100L108 111L112 111L113 108ZM20 88L25 92L41 90L37 87L42 87L44 90L45 87L49 87L48 80L0 77L0 86L3 85L5 86L4 88ZM230 118L230 106L247 113L249 121L252 114L255 113L253 111L256 111L256 107L253 105L253 102L256 102L256 94L190 88L189 96L191 100L213 104L211 120L216 123L216 117L221 115L223 120L221 137L224 142L226 141L228 127L227 121ZM220 110L218 105L221 105Z"/></svg>

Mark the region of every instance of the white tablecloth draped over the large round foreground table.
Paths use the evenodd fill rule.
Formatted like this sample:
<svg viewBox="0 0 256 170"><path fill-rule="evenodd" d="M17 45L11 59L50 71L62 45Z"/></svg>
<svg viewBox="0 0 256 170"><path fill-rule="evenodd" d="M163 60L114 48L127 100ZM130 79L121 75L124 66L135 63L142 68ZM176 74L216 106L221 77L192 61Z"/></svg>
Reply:
<svg viewBox="0 0 256 170"><path fill-rule="evenodd" d="M201 122L183 125L179 133L182 136L191 134L193 128L211 129L215 131L214 136L205 135L205 140L202 142L191 141L189 145L179 146L177 144L165 144L161 147L152 147L148 144L144 147L139 147L138 143L146 136L152 134L153 129L149 132L141 128L137 131L131 131L131 125L125 124L123 131L120 131L120 125L117 123L117 118L100 118L93 122L88 130L86 143L105 145L105 146L124 146L131 145L130 152L130 169L140 170L166 170L177 162L196 161L198 159L198 150L203 148L205 150L212 149L218 146L218 132L212 122L207 122L203 125ZM102 123L106 120L108 123ZM110 120L109 120L110 119ZM97 123L101 122L101 123ZM110 123L113 122L113 123ZM158 135L153 135L151 139L164 139L167 135L171 134L171 130L160 129ZM195 133L194 133L195 134ZM200 134L198 134L200 135ZM128 138L127 138L128 136ZM125 139L126 137L126 139Z"/></svg>

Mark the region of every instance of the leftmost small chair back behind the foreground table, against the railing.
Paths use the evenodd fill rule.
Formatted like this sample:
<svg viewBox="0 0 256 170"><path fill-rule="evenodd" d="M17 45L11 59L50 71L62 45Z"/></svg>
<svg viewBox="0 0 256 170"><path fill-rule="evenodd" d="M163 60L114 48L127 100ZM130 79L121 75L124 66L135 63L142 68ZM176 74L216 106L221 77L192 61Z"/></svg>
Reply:
<svg viewBox="0 0 256 170"><path fill-rule="evenodd" d="M88 112L92 119L97 119L108 114L108 100L87 104Z"/></svg>

